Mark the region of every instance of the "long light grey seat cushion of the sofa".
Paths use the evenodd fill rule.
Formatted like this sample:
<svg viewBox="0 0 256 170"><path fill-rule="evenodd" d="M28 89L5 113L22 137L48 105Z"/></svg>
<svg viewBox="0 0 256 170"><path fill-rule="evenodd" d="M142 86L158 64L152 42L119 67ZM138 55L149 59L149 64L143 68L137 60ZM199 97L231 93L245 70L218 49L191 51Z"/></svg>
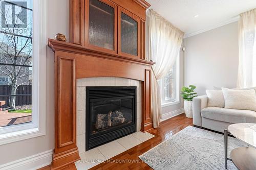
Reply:
<svg viewBox="0 0 256 170"><path fill-rule="evenodd" d="M204 118L227 123L256 123L256 112L251 110L227 109L219 107L206 107L201 110Z"/></svg>

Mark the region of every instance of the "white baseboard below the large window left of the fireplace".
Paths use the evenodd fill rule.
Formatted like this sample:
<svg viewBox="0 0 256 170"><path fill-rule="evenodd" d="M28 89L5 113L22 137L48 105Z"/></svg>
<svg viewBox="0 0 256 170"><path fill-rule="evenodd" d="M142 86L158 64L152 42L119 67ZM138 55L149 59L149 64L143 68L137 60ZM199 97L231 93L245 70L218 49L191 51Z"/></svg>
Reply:
<svg viewBox="0 0 256 170"><path fill-rule="evenodd" d="M0 165L1 170L34 170L52 162L52 150Z"/></svg>

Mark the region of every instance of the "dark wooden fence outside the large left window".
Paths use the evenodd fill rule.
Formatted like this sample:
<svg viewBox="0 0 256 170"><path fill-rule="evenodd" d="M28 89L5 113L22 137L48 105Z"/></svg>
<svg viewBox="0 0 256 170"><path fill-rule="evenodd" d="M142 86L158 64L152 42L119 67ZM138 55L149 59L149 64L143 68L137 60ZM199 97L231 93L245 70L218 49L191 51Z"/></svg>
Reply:
<svg viewBox="0 0 256 170"><path fill-rule="evenodd" d="M10 107L10 98L15 96L15 106L32 104L32 85L20 85L16 90L16 95L11 95L11 85L0 85L0 101L6 101L2 108Z"/></svg>

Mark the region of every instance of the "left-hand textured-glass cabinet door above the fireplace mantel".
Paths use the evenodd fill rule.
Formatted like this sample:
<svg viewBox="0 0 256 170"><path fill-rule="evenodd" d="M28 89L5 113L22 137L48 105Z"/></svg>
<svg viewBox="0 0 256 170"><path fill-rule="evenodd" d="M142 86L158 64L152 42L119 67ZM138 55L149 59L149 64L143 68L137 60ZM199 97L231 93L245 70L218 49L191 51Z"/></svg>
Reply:
<svg viewBox="0 0 256 170"><path fill-rule="evenodd" d="M110 1L89 0L88 46L116 51L117 7Z"/></svg>

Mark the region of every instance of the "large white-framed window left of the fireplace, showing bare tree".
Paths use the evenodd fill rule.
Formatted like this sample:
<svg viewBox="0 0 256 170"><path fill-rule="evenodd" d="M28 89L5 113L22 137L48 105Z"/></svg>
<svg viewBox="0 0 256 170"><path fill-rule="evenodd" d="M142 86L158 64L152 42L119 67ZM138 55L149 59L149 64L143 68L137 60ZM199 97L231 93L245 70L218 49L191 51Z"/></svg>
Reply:
<svg viewBox="0 0 256 170"><path fill-rule="evenodd" d="M45 5L43 0L0 2L0 144L45 133L45 114L39 114L45 104L45 95L40 97L45 52L39 51L46 39Z"/></svg>

